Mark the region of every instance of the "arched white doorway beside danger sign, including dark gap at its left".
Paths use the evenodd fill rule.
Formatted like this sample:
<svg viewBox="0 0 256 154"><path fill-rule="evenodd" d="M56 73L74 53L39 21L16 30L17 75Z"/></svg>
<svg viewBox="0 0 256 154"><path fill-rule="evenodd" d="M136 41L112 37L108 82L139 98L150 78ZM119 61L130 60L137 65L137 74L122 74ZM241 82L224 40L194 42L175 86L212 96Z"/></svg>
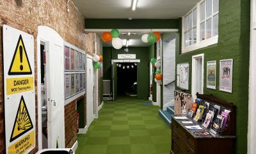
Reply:
<svg viewBox="0 0 256 154"><path fill-rule="evenodd" d="M65 148L63 39L38 26L37 42L38 149Z"/></svg>

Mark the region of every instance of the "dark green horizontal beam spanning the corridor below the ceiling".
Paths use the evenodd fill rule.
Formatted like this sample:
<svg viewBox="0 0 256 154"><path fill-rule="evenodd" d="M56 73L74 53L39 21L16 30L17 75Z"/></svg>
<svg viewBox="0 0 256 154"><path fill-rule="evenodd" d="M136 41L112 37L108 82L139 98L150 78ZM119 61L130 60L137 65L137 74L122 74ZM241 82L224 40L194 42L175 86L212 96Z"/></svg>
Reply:
<svg viewBox="0 0 256 154"><path fill-rule="evenodd" d="M179 29L179 19L85 19L86 29Z"/></svg>

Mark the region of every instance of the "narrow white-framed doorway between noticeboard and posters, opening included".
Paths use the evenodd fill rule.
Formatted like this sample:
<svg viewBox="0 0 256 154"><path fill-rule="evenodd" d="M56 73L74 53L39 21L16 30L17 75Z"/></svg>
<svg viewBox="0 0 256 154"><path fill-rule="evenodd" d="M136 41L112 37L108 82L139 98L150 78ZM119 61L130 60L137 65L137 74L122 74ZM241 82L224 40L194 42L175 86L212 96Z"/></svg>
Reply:
<svg viewBox="0 0 256 154"><path fill-rule="evenodd" d="M204 93L204 54L192 56L192 88L191 95L195 102L196 93Z"/></svg>

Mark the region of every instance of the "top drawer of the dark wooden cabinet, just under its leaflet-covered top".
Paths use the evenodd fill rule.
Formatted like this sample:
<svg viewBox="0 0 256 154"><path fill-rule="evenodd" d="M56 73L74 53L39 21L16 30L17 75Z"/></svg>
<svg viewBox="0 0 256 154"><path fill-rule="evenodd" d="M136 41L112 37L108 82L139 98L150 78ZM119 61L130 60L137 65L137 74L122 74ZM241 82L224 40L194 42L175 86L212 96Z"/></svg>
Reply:
<svg viewBox="0 0 256 154"><path fill-rule="evenodd" d="M195 138L189 134L183 127L180 126L175 120L172 121L172 127L181 135L181 137L190 144L191 148L195 150Z"/></svg>

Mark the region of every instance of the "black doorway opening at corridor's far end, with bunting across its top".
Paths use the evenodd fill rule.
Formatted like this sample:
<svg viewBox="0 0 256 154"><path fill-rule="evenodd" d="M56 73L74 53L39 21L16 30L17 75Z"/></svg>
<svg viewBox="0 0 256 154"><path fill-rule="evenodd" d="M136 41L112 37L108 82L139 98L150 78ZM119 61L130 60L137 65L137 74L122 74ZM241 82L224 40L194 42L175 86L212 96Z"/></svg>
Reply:
<svg viewBox="0 0 256 154"><path fill-rule="evenodd" d="M137 63L117 63L117 95L137 97Z"/></svg>

